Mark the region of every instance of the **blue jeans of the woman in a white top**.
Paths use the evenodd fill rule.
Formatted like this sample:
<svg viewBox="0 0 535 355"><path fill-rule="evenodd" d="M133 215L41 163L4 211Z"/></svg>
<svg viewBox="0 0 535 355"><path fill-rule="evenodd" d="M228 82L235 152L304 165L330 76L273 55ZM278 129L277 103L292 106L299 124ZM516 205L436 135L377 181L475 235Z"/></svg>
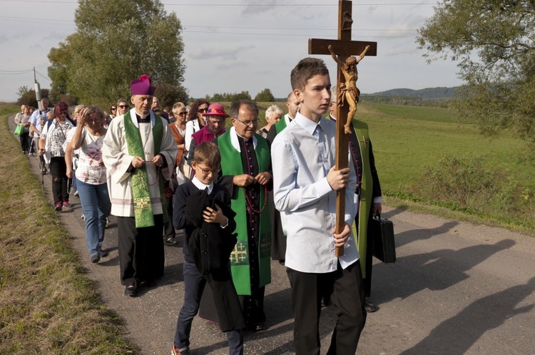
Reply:
<svg viewBox="0 0 535 355"><path fill-rule="evenodd" d="M76 178L75 178L76 179ZM78 179L76 179L78 180ZM106 217L110 207L110 197L106 183L91 185L81 180L76 183L78 196L86 217L86 242L89 256L100 254L104 241Z"/></svg>

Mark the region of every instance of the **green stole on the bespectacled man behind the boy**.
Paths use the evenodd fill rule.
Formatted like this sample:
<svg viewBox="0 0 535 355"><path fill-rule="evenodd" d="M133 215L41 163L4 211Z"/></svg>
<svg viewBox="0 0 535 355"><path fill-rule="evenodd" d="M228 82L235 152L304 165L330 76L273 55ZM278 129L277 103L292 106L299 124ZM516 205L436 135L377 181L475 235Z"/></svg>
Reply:
<svg viewBox="0 0 535 355"><path fill-rule="evenodd" d="M255 133L257 146L255 155L258 160L258 171L263 172L270 168L270 149L267 146L267 140ZM238 138L239 139L239 138ZM244 174L241 153L235 150L230 142L230 130L227 130L218 138L218 146L221 152L221 175L241 175ZM238 233L238 242L233 252L230 253L230 271L233 275L233 282L238 294L251 294L250 282L250 264L249 264L249 242L247 228L247 210L245 194L241 187L235 186L234 197L231 200L231 206L236 212L236 230ZM260 203L265 200L265 192L260 189ZM271 282L271 218L270 209L266 205L260 213L260 231L258 232L258 266L260 281L259 286L263 287Z"/></svg>

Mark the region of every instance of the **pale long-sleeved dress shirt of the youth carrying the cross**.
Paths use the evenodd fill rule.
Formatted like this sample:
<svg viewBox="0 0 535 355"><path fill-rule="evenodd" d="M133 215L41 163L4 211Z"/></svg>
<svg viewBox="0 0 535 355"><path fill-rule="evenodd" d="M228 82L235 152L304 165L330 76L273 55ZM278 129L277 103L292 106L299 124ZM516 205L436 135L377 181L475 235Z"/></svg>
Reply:
<svg viewBox="0 0 535 355"><path fill-rule="evenodd" d="M336 223L336 191L327 182L335 166L336 124L326 118L319 123L297 113L271 145L275 207L281 212L287 235L285 265L300 272L326 273L359 259L355 238L350 235L344 255L335 256L331 230ZM350 164L350 181L357 182ZM345 222L352 225L357 212L353 188L345 191ZM351 232L352 233L352 232Z"/></svg>

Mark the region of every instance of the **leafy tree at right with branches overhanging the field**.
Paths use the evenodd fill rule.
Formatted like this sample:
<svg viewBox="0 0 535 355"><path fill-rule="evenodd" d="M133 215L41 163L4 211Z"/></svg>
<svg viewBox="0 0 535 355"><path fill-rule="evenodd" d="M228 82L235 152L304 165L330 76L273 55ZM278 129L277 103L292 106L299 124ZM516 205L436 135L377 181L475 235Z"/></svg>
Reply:
<svg viewBox="0 0 535 355"><path fill-rule="evenodd" d="M427 58L457 61L457 108L484 133L535 143L535 1L444 0L418 31Z"/></svg>

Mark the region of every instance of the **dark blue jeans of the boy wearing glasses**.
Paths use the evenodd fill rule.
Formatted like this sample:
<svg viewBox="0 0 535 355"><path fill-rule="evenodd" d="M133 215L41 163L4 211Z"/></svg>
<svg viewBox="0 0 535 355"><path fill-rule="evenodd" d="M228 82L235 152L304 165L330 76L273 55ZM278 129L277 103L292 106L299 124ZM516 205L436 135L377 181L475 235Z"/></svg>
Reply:
<svg viewBox="0 0 535 355"><path fill-rule="evenodd" d="M184 304L176 322L175 347L190 346L190 331L193 317L199 311L200 297L206 286L203 277L193 262L184 261ZM243 331L241 329L225 331L230 355L243 355Z"/></svg>

